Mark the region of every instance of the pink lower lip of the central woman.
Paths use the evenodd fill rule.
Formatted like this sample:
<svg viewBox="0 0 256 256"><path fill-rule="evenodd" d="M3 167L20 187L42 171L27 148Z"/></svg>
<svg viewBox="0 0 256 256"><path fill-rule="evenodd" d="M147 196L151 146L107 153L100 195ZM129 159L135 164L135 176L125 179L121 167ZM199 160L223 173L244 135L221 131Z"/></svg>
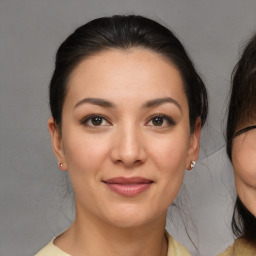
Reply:
<svg viewBox="0 0 256 256"><path fill-rule="evenodd" d="M147 190L152 183L139 184L116 184L106 183L106 185L114 192L122 196L137 196Z"/></svg>

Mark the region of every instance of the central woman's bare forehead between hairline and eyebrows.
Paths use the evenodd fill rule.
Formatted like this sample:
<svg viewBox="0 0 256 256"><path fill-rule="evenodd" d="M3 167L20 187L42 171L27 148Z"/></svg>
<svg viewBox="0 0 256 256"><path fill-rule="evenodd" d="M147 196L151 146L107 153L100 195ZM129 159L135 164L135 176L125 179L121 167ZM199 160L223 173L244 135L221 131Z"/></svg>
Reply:
<svg viewBox="0 0 256 256"><path fill-rule="evenodd" d="M162 55L146 49L109 50L82 60L70 75L67 97L141 100L174 97L187 104L180 72Z"/></svg>

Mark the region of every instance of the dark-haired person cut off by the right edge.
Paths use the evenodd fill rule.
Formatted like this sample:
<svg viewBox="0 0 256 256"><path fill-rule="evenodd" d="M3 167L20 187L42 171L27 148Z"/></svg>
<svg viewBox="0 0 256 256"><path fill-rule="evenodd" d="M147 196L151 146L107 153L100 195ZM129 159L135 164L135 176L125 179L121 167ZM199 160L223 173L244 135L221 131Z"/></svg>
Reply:
<svg viewBox="0 0 256 256"><path fill-rule="evenodd" d="M220 256L252 256L256 255L256 34L232 80L226 134L237 190L232 219L237 239Z"/></svg>

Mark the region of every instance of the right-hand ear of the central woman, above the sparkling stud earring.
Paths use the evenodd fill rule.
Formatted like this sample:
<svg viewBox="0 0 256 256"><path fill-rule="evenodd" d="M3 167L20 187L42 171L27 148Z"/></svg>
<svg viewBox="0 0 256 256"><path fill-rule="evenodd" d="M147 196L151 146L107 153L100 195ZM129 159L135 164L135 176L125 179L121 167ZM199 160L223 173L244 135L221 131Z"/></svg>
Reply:
<svg viewBox="0 0 256 256"><path fill-rule="evenodd" d="M201 133L201 119L198 118L195 123L195 129L190 135L188 157L186 163L186 169L192 170L191 161L196 161L199 155L200 149L200 133Z"/></svg>

